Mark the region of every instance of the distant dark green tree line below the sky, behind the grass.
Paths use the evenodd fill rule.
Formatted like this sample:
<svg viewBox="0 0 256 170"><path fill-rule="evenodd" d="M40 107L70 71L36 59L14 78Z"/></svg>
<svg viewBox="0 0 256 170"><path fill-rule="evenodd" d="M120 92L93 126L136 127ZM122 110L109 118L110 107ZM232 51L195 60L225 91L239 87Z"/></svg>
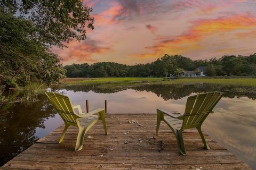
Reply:
<svg viewBox="0 0 256 170"><path fill-rule="evenodd" d="M256 75L256 53L250 56L225 55L210 60L191 60L181 55L165 54L162 58L147 64L126 65L114 62L99 62L89 65L66 65L69 78L97 77L164 77L179 75L184 70L195 71L205 66L207 76Z"/></svg>

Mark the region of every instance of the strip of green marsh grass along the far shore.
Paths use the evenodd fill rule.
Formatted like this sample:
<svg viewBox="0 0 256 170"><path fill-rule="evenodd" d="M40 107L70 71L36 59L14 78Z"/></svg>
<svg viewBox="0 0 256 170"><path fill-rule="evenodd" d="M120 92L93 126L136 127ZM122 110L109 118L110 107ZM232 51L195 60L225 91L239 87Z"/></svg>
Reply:
<svg viewBox="0 0 256 170"><path fill-rule="evenodd" d="M181 78L175 80L164 80L163 78L66 78L65 84L99 84L99 83L150 83L150 84L221 84L235 86L256 86L256 79L253 78Z"/></svg>

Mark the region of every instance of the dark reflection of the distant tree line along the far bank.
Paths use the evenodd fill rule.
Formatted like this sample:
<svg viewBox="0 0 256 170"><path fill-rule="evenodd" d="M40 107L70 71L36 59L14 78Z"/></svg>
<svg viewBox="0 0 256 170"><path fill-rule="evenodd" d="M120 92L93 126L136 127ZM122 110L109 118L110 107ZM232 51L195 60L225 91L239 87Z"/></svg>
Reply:
<svg viewBox="0 0 256 170"><path fill-rule="evenodd" d="M131 84L129 84L131 85ZM255 87L242 87L242 86L221 86L216 84L134 84L133 86L126 86L125 84L119 85L118 83L110 84L79 84L73 86L65 86L54 88L62 90L71 90L74 92L83 91L89 92L93 91L95 93L103 94L113 94L118 91L123 91L127 89L134 89L138 91L154 92L158 97L162 97L164 100L169 99L181 99L183 97L190 96L193 93L203 93L209 91L222 91L225 92L224 97L228 98L240 98L247 97L250 99L256 99L256 88Z"/></svg>

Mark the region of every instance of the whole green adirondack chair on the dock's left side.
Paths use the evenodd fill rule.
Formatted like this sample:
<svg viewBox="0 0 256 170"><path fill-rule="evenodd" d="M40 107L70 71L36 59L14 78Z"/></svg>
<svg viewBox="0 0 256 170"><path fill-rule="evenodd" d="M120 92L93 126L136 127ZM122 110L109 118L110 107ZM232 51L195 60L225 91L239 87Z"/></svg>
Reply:
<svg viewBox="0 0 256 170"><path fill-rule="evenodd" d="M79 129L75 151L81 150L83 148L85 133L89 131L90 128L92 128L92 126L99 120L102 121L105 133L107 134L105 109L98 108L92 112L83 113L81 106L73 106L70 99L67 96L57 94L54 92L45 92L45 94L65 123L65 129L63 130L58 143L62 142L63 138L65 137L65 133L70 125L77 126ZM78 113L76 113L74 109L78 109ZM98 115L94 115L97 113Z"/></svg>

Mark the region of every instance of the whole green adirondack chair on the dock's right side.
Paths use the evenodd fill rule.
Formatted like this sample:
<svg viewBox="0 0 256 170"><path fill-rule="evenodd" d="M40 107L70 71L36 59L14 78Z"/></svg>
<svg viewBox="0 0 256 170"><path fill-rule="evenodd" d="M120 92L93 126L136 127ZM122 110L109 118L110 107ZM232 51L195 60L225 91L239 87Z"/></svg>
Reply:
<svg viewBox="0 0 256 170"><path fill-rule="evenodd" d="M185 129L196 128L202 138L205 149L210 149L204 139L201 126L205 118L210 113L213 113L212 109L217 105L222 96L222 92L207 92L205 94L190 96L187 99L185 114L183 115L174 115L163 109L157 109L156 135L158 135L161 121L164 121L175 134L179 153L181 155L187 155L182 131Z"/></svg>

